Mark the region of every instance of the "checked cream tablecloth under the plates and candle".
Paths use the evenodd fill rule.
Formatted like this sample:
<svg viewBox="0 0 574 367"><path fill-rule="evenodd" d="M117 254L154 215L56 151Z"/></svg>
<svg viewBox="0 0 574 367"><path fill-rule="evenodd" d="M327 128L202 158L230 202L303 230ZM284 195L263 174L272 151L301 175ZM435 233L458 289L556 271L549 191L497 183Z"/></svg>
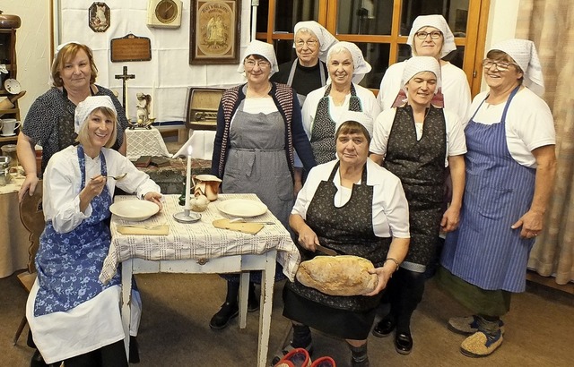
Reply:
<svg viewBox="0 0 574 367"><path fill-rule="evenodd" d="M277 249L277 261L283 265L283 273L291 281L299 268L300 253L291 241L291 235L269 210L253 221L273 221L274 225L265 225L257 235L234 232L227 229L215 228L213 220L232 218L217 209L221 201L231 199L248 199L259 201L255 194L221 194L217 201L201 213L202 218L196 223L178 223L173 214L183 210L178 204L178 195L164 195L163 209L142 222L128 222L112 217L112 240L109 254L104 260L100 273L100 281L108 282L117 272L120 262L131 258L144 260L188 260L213 259L222 256L240 254L261 254L273 248ZM137 200L135 196L117 196L116 201ZM135 224L142 226L158 226L166 224L170 227L169 235L120 235L118 225Z"/></svg>

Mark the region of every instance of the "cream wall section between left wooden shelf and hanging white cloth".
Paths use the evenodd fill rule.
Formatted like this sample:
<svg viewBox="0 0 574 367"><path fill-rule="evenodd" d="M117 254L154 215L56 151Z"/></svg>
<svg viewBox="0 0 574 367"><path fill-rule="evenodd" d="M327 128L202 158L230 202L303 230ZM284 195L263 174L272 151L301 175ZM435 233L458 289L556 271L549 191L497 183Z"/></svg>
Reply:
<svg viewBox="0 0 574 367"><path fill-rule="evenodd" d="M16 30L16 61L22 90L19 99L22 121L30 105L48 90L50 57L48 0L2 0L4 14L18 15L22 25Z"/></svg>

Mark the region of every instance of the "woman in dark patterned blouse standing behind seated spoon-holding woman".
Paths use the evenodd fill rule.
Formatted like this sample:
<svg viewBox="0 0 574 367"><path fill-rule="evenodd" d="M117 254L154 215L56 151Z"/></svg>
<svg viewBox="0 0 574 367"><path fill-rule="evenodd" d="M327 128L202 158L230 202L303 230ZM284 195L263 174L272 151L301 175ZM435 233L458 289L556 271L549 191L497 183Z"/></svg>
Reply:
<svg viewBox="0 0 574 367"><path fill-rule="evenodd" d="M18 135L18 160L26 174L18 193L20 201L26 192L34 193L38 177L44 173L49 158L74 145L75 107L88 96L109 96L114 102L118 111L117 140L112 148L126 155L124 107L111 90L95 84L97 75L90 47L74 42L57 47L50 73L52 88L34 101ZM36 172L35 145L42 147L41 172Z"/></svg>

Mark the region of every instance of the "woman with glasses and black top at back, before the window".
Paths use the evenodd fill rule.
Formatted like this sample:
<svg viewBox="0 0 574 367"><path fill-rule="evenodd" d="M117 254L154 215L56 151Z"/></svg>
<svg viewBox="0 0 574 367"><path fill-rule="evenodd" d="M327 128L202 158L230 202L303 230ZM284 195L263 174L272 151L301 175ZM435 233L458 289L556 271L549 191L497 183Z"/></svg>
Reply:
<svg viewBox="0 0 574 367"><path fill-rule="evenodd" d="M279 65L271 81L284 83L297 92L300 106L311 90L326 84L326 53L337 39L317 21L300 21L295 24L293 48L297 58Z"/></svg>

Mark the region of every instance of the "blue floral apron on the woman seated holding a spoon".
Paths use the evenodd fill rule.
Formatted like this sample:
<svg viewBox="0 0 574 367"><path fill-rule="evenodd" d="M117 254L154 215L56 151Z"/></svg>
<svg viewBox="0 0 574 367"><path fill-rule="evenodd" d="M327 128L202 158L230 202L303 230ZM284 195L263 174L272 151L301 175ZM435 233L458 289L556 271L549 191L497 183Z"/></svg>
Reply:
<svg viewBox="0 0 574 367"><path fill-rule="evenodd" d="M83 190L86 183L83 147L77 147ZM101 175L107 175L106 159L100 151ZM72 199L72 198L70 198ZM108 256L111 235L105 219L111 215L112 199L108 185L91 201L91 216L67 233L57 233L49 220L40 236L36 256L39 290L34 303L34 315L65 312L91 300L109 286L119 284L119 271L107 284L98 277Z"/></svg>

